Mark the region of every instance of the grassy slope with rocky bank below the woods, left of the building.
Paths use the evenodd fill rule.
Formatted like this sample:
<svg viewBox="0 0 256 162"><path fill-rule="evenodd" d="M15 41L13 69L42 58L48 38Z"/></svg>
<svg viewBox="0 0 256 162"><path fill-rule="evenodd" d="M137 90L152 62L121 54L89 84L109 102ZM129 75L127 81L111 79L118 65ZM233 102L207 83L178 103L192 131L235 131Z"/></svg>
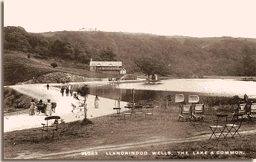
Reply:
<svg viewBox="0 0 256 162"><path fill-rule="evenodd" d="M106 78L115 77L114 74L95 73L82 69L83 64L65 62L63 60L35 59L33 55L28 59L27 54L21 52L4 52L4 85L14 85L17 82L32 80L56 71L63 71L70 74L77 74L82 77ZM52 68L51 63L57 62L58 67Z"/></svg>

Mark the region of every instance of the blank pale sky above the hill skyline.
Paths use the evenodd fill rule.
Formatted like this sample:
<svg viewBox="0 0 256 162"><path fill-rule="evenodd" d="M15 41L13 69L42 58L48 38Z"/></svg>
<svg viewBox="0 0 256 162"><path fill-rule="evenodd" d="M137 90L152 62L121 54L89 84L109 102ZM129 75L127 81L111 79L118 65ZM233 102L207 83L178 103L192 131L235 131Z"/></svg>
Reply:
<svg viewBox="0 0 256 162"><path fill-rule="evenodd" d="M256 0L5 0L4 27L256 38Z"/></svg>

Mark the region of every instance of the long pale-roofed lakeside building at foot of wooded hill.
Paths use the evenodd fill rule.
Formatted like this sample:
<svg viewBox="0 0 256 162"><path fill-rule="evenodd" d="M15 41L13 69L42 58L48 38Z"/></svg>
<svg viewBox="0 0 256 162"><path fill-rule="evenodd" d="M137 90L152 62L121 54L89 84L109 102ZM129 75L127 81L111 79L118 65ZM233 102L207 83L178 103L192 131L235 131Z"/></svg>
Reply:
<svg viewBox="0 0 256 162"><path fill-rule="evenodd" d="M125 69L122 68L122 62L103 62L103 61L90 61L90 71L124 74Z"/></svg>

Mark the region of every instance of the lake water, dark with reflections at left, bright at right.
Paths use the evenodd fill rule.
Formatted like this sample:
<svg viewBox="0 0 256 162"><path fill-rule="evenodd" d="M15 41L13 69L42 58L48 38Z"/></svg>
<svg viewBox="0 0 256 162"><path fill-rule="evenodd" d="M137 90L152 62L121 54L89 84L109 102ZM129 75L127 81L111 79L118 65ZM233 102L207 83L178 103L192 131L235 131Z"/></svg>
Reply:
<svg viewBox="0 0 256 162"><path fill-rule="evenodd" d="M121 94L121 100L132 101L132 88L135 89L135 103L139 100L159 100L171 94L174 101L175 94L184 94L188 100L188 95L197 94L199 98L209 96L238 95L243 97L247 94L250 98L256 97L256 82L243 82L239 80L164 80L161 84L148 83L127 83L118 85L89 85L90 94L98 95L117 100Z"/></svg>

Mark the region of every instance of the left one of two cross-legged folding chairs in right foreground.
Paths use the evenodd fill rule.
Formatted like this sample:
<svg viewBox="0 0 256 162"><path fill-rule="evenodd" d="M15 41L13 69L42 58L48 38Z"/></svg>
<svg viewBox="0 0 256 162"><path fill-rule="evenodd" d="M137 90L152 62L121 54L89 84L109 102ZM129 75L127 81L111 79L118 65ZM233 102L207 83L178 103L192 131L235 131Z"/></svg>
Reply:
<svg viewBox="0 0 256 162"><path fill-rule="evenodd" d="M224 130L226 128L227 120L228 120L228 114L217 114L216 125L209 126L212 132L211 137L214 135L216 139L219 140L220 136L223 135L225 139ZM214 120L214 122L216 122L216 120ZM217 132L218 130L220 130L220 132ZM216 136L216 133L220 133L219 137ZM209 138L209 140L211 139L211 137Z"/></svg>

